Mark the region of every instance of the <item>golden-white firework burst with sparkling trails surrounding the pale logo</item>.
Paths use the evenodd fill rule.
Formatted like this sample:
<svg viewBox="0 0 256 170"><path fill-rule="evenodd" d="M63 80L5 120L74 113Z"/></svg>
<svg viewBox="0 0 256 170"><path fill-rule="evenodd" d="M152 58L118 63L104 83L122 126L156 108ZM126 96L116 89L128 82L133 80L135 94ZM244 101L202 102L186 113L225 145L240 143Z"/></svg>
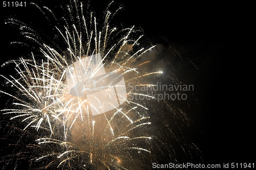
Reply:
<svg viewBox="0 0 256 170"><path fill-rule="evenodd" d="M26 23L13 18L6 21L18 26L21 34L36 44L42 57L31 53L29 57L3 64L14 64L17 74L1 75L5 86L11 88L1 93L12 99L1 111L10 122L15 122L15 126L9 125L11 131L22 134L12 141L15 143L13 154L2 157L4 167L12 163L20 167L19 164L27 162L31 169L140 169L138 164L147 167L147 160L159 160L157 155L164 155L162 148L169 160L177 161L173 147L165 141L168 139L160 139L152 133L150 113L154 111L149 111L152 107L145 101L125 100L115 109L93 116L90 101L71 95L67 85L70 65L100 54L106 72L123 76L125 84L154 86L148 83L149 78L161 75L162 71L145 71L143 66L151 62L141 58L154 50L155 45L140 47L143 35L138 35L140 30L134 26L121 30L113 27L111 19L120 8L112 12L109 10L112 3L104 11L102 22L97 22L94 12L75 0L62 7L65 13L59 18L47 7L31 5L44 14L44 11L49 12L56 20L53 30L62 50L44 42ZM101 67L90 64L93 77ZM100 86L96 90L104 88ZM154 99L139 92L129 94ZM161 105L171 113L181 113L180 118L188 124L185 113L179 108L166 102ZM180 142L168 124L164 127ZM181 144L182 148L191 146Z"/></svg>

